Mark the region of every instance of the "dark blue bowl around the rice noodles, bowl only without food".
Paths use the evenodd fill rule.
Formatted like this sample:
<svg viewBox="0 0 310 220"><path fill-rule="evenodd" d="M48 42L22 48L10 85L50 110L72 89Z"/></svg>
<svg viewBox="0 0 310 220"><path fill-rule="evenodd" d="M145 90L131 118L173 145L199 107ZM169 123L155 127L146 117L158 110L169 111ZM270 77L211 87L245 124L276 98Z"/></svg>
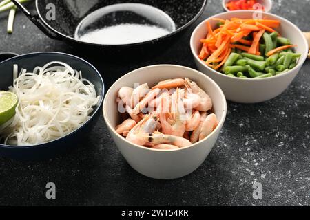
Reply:
<svg viewBox="0 0 310 220"><path fill-rule="evenodd" d="M22 161L45 160L52 159L63 153L67 153L70 149L78 146L79 140L90 131L95 124L96 119L101 113L101 106L104 96L104 83L98 70L87 61L72 56L70 54L63 54L58 52L39 52L32 54L25 54L9 58L0 63L0 90L7 91L8 87L13 83L13 65L17 64L20 68L32 70L34 67L43 66L52 61L61 61L68 63L73 69L81 70L83 78L90 80L96 88L96 93L101 96L100 102L94 107L94 111L90 115L91 118L83 124L79 129L72 133L65 135L57 140L45 144L34 146L8 146L0 143L0 156L9 157L12 159Z"/></svg>

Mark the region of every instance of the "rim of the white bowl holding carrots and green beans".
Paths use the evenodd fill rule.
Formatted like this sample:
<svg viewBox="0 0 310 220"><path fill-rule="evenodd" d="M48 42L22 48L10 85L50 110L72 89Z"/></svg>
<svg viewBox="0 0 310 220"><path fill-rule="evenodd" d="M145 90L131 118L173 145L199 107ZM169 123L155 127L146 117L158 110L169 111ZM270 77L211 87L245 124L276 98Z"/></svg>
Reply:
<svg viewBox="0 0 310 220"><path fill-rule="evenodd" d="M200 58L198 58L198 54L196 54L196 52L194 51L194 36L196 35L196 33L198 32L198 30L200 30L200 28L204 27L205 22L210 21L211 19L220 17L222 15L226 15L226 14L240 14L240 13L254 13L256 12L255 10L235 10L235 11L229 11L229 12L222 12L219 14L215 14L212 17L209 17L207 19L205 19L204 21L202 21L201 23L199 23L196 28L194 29L194 31L192 32L192 36L190 39L190 47L191 47L191 51L192 54L194 55L194 58L196 59L196 61L198 61L200 64L202 64L205 68L209 69L211 72L218 74L220 76L223 76L225 78L229 78L231 80L239 80L239 81L251 81L251 82L256 82L256 81L264 81L264 80L271 80L271 79L276 79L276 78L281 78L284 76L287 76L289 74L291 74L292 72L294 72L296 69L300 69L300 67L302 67L302 65L304 64L304 61L306 61L307 59L307 54L308 54L308 42L306 40L306 37L304 36L304 34L302 34L302 31L295 25L293 24L291 21L280 17L276 14L271 14L269 12L262 12L262 14L268 15L269 17L275 17L275 19L280 19L282 21L285 21L287 23L289 23L290 25L293 26L293 28L296 28L298 34L302 37L304 44L306 45L305 49L304 49L304 53L302 53L302 56L300 57L299 61L298 61L298 65L296 65L296 67L294 67L293 69L289 69L288 72L282 73L282 74L278 74L276 76L272 76L269 78L238 78L238 77L231 77L231 76L227 76L226 74L223 74L221 72L218 72L214 69L212 69L211 67L208 67L207 65L205 65L205 63L203 61L200 60Z"/></svg>

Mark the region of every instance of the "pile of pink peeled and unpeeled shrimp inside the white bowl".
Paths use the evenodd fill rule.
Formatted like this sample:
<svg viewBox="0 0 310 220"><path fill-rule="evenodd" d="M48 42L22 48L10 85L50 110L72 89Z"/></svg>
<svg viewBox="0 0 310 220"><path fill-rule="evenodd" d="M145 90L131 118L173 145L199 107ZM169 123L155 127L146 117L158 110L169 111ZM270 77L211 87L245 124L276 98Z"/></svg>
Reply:
<svg viewBox="0 0 310 220"><path fill-rule="evenodd" d="M207 137L218 119L209 95L188 78L122 87L116 99L123 123L116 132L133 144L160 150L190 146Z"/></svg>

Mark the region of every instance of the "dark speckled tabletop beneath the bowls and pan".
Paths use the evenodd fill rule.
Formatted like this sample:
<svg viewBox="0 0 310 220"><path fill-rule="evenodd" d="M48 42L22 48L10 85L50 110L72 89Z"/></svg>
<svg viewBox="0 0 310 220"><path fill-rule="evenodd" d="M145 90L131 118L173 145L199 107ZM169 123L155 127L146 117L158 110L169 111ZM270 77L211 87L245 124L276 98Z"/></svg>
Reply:
<svg viewBox="0 0 310 220"><path fill-rule="evenodd" d="M310 30L309 0L273 2L275 14ZM195 67L189 36L200 21L218 12L222 12L220 1L209 1L199 21L152 60L113 63L48 39L21 13L14 33L6 34L6 16L1 15L0 52L75 54L93 63L110 87L123 74L145 65ZM136 173L116 149L101 117L69 155L48 162L0 158L0 205L309 206L309 109L310 61L306 61L278 98L262 104L229 102L225 126L209 157L194 173L173 181ZM55 200L45 198L45 185L50 181L56 184ZM258 200L252 195L256 181L262 184L262 199Z"/></svg>

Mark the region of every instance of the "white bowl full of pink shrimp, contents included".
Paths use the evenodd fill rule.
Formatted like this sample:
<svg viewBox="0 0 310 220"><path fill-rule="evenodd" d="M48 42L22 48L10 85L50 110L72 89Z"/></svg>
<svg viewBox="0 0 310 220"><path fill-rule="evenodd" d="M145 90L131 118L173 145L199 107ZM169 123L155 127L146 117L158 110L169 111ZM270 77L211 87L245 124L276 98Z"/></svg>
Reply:
<svg viewBox="0 0 310 220"><path fill-rule="evenodd" d="M184 177L203 164L226 113L214 80L178 65L136 69L117 80L103 102L118 150L134 170L154 179Z"/></svg>

